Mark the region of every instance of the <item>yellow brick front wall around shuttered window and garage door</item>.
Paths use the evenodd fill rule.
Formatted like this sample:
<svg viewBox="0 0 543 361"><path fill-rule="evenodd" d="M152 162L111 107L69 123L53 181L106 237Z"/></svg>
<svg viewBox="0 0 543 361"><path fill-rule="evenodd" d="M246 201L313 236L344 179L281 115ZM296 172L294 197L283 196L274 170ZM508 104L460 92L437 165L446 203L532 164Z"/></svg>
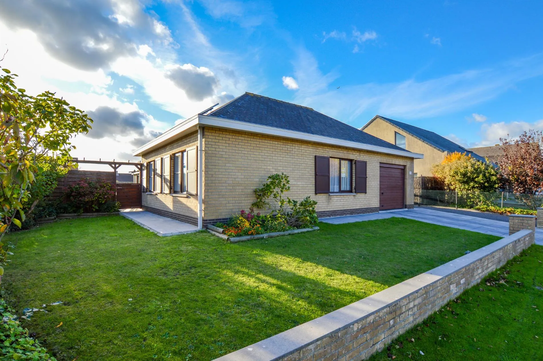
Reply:
<svg viewBox="0 0 543 361"><path fill-rule="evenodd" d="M379 207L379 163L406 166L406 204L413 204L413 159L286 138L205 128L204 219L226 218L255 201L268 175L290 176L292 199L311 195L317 211ZM315 155L368 162L367 194L315 194ZM354 172L353 172L354 173ZM353 174L354 178L354 174ZM354 183L354 179L352 181Z"/></svg>

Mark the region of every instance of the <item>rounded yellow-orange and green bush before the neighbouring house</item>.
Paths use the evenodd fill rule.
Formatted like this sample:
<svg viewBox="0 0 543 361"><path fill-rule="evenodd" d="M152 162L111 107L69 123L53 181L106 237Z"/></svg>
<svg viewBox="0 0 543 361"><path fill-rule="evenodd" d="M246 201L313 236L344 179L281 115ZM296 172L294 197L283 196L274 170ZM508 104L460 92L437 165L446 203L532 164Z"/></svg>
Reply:
<svg viewBox="0 0 543 361"><path fill-rule="evenodd" d="M434 164L432 174L447 188L459 192L494 192L499 183L498 172L490 162L481 162L459 152Z"/></svg>

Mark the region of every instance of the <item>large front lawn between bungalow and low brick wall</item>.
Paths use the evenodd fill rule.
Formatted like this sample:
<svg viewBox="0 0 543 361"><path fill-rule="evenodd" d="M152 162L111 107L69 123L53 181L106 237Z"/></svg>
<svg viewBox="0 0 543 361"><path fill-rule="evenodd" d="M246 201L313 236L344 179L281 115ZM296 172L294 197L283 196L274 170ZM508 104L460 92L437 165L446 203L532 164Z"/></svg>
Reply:
<svg viewBox="0 0 543 361"><path fill-rule="evenodd" d="M319 226L226 244L63 220L8 235L4 296L19 313L64 302L23 322L59 360L209 360L498 239L401 218Z"/></svg>

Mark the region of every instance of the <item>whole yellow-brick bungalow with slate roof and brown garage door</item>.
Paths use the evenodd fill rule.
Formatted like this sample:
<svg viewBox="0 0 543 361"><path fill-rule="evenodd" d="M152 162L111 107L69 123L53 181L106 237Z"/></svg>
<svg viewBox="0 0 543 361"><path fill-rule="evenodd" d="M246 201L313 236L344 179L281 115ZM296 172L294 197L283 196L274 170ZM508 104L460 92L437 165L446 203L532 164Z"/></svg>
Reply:
<svg viewBox="0 0 543 361"><path fill-rule="evenodd" d="M207 110L209 111L209 110ZM413 207L411 153L311 108L245 93L134 151L145 210L199 227L254 202L270 174L288 197L311 195L319 217Z"/></svg>

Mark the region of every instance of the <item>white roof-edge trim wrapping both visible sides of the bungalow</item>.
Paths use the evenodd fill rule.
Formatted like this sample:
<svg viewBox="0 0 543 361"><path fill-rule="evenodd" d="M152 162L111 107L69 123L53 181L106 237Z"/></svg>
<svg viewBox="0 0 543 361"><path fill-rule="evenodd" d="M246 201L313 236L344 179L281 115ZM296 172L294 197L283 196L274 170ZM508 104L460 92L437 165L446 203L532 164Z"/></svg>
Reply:
<svg viewBox="0 0 543 361"><path fill-rule="evenodd" d="M362 149L362 150L375 151L377 153L399 155L399 156L409 157L413 159L424 158L423 154L412 153L407 150L390 149L386 147L380 147L378 145L345 141L345 140L341 140L337 138L308 134L308 133L288 130L288 129L275 128L274 126L233 121L231 119L212 117L209 115L195 115L194 117L187 119L185 122L182 122L174 126L172 129L165 131L163 134L159 135L154 140L136 149L132 155L141 156L146 151L159 148L160 145L171 142L173 139L184 135L186 132L196 130L197 125L216 126L217 128L225 128L225 129L247 131L247 132L258 133L258 134L274 135L278 137L291 138L291 139L303 140L303 141L308 141L308 142L337 145L339 147Z"/></svg>

